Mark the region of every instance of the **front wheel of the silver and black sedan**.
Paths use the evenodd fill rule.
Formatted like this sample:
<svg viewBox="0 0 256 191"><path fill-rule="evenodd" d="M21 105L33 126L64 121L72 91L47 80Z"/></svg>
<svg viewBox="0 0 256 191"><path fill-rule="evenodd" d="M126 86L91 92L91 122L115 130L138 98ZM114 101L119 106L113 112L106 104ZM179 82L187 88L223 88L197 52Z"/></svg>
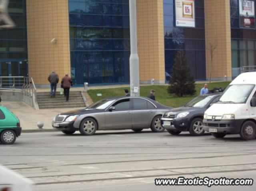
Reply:
<svg viewBox="0 0 256 191"><path fill-rule="evenodd" d="M82 120L79 131L82 135L93 135L97 130L97 122L93 118L85 118Z"/></svg>

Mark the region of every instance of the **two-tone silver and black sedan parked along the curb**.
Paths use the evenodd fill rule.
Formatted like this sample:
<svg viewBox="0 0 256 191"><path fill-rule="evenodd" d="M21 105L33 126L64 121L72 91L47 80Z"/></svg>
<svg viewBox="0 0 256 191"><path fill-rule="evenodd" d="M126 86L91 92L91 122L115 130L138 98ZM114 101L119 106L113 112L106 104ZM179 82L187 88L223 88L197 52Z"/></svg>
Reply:
<svg viewBox="0 0 256 191"><path fill-rule="evenodd" d="M93 135L96 130L132 129L140 132L144 128L163 132L160 118L167 110L170 107L145 97L106 98L85 109L55 116L52 127L64 134L79 130L82 135Z"/></svg>

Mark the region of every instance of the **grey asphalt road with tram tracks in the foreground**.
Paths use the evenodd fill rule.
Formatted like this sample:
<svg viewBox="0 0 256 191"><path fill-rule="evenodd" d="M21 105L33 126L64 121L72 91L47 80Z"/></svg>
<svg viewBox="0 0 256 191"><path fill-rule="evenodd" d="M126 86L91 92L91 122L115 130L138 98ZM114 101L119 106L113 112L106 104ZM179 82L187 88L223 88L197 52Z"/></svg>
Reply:
<svg viewBox="0 0 256 191"><path fill-rule="evenodd" d="M156 186L155 178L256 179L256 140L143 130L72 136L23 133L0 144L0 163L32 179L36 191L256 190L252 186Z"/></svg>

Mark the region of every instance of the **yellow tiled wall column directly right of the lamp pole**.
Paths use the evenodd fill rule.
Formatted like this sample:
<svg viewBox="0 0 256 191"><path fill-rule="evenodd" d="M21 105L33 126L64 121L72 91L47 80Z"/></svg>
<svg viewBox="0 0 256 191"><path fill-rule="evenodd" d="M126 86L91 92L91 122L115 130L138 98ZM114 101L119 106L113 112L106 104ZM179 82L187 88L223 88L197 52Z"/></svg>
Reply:
<svg viewBox="0 0 256 191"><path fill-rule="evenodd" d="M164 82L163 0L137 0L137 39L140 81Z"/></svg>

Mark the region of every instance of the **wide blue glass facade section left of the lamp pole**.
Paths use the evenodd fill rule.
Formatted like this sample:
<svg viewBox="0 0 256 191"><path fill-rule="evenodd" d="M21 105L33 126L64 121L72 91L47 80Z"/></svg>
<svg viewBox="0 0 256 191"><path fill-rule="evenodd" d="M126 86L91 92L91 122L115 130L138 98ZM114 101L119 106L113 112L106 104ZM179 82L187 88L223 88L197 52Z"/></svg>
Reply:
<svg viewBox="0 0 256 191"><path fill-rule="evenodd" d="M128 83L129 0L69 0L75 83Z"/></svg>

